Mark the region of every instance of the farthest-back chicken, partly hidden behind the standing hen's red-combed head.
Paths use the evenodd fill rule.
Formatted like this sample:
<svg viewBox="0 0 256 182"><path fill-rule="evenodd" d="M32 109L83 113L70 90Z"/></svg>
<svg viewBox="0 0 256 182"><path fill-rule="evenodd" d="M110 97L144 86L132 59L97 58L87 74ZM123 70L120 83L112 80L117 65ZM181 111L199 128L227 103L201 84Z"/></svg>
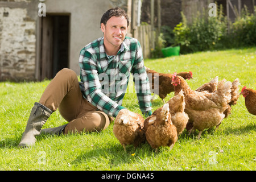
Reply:
<svg viewBox="0 0 256 182"><path fill-rule="evenodd" d="M150 81L151 93L154 93L154 96L151 98L151 100L154 100L155 94L158 94L165 104L166 102L164 101L164 98L166 98L167 94L174 92L174 86L171 84L172 74L158 73L147 67L145 69L147 72L148 80ZM177 75L188 80L193 78L192 72L180 72L180 73L177 73ZM155 81L156 81L156 84L155 84Z"/></svg>

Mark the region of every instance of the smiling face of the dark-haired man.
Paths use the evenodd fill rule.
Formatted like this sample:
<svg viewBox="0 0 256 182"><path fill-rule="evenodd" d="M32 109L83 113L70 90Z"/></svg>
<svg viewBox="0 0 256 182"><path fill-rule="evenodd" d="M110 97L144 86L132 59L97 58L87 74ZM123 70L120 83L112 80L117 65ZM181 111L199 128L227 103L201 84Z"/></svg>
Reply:
<svg viewBox="0 0 256 182"><path fill-rule="evenodd" d="M127 34L127 20L125 16L112 16L106 25L101 23L101 31L104 32L104 45L110 49L118 48Z"/></svg>

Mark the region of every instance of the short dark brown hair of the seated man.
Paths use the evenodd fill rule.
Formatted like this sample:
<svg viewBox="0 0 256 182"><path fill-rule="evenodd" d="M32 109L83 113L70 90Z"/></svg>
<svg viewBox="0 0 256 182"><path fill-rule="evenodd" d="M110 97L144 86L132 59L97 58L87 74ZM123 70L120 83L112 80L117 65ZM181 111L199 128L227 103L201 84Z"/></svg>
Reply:
<svg viewBox="0 0 256 182"><path fill-rule="evenodd" d="M129 26L129 18L128 15L126 14L125 10L121 9L120 7L113 7L112 9L109 9L106 11L102 17L101 17L101 23L106 25L106 22L112 17L120 17L120 16L125 16L126 21L127 21L127 27Z"/></svg>

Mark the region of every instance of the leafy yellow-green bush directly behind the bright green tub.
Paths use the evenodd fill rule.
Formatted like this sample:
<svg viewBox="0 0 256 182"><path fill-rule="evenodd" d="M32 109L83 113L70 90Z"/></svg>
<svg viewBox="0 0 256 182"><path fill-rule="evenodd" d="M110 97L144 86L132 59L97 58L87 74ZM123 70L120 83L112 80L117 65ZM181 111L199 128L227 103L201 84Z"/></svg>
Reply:
<svg viewBox="0 0 256 182"><path fill-rule="evenodd" d="M227 26L222 7L215 17L204 14L197 13L191 24L187 24L185 16L181 14L183 20L174 28L175 43L181 46L181 53L214 49L226 35Z"/></svg>

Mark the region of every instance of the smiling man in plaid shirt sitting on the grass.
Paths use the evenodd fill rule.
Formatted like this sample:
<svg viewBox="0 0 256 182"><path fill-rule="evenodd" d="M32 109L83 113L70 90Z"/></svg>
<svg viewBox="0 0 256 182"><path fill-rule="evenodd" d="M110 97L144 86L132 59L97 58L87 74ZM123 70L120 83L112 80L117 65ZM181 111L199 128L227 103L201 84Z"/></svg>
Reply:
<svg viewBox="0 0 256 182"><path fill-rule="evenodd" d="M138 40L126 37L128 26L126 12L118 7L102 15L104 37L94 40L80 52L81 82L71 69L64 68L57 73L40 101L35 102L19 147L32 146L36 142L35 135L40 133L67 134L106 129L112 117L126 109L122 100L130 73L134 76L142 113L152 114L142 49ZM41 131L57 108L68 124Z"/></svg>

